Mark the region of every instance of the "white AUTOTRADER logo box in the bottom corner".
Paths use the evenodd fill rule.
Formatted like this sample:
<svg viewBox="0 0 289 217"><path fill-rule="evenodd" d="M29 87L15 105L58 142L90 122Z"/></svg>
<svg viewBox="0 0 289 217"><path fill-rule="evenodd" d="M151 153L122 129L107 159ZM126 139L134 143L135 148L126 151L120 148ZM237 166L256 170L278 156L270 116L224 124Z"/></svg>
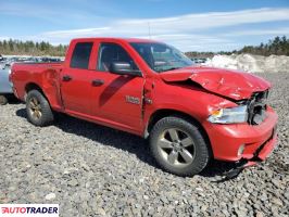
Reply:
<svg viewBox="0 0 289 217"><path fill-rule="evenodd" d="M0 204L0 217L59 217L59 204Z"/></svg>

